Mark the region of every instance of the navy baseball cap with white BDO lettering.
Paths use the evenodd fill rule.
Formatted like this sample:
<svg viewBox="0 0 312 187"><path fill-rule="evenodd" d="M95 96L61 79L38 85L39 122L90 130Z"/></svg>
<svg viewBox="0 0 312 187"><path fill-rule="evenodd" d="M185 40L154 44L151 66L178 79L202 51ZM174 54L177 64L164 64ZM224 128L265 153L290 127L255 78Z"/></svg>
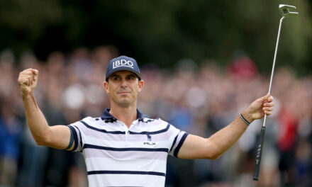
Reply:
<svg viewBox="0 0 312 187"><path fill-rule="evenodd" d="M108 77L111 76L111 74L123 70L133 72L138 76L139 80L141 79L138 63L133 58L120 56L112 59L109 62L106 69L106 81L108 80Z"/></svg>

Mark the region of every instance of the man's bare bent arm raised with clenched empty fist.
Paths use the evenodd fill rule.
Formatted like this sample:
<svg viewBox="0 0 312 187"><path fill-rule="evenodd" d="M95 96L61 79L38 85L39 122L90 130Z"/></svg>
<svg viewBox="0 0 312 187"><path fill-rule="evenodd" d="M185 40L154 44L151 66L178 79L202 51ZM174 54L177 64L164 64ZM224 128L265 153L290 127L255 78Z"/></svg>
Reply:
<svg viewBox="0 0 312 187"><path fill-rule="evenodd" d="M33 90L37 85L38 73L37 69L30 68L20 72L18 76L28 127L37 145L66 149L71 136L69 128L65 125L50 127L35 101ZM72 147L69 147L69 150Z"/></svg>

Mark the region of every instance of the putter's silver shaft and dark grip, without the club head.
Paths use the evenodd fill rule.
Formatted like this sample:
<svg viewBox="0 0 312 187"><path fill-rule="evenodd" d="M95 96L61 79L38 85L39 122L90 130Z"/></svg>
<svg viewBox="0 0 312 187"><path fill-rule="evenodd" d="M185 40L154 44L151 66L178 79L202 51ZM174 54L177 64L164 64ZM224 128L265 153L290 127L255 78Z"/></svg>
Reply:
<svg viewBox="0 0 312 187"><path fill-rule="evenodd" d="M273 59L273 66L272 66L272 72L271 72L271 79L269 80L269 94L271 94L271 87L272 87L272 80L274 75L274 67L275 67L275 60L277 59L277 48L279 47L279 33L281 33L282 28L282 22L285 17L283 16L279 20L279 32L277 33L277 45L275 47L274 52L274 59ZM255 163L255 170L254 170L254 176L253 179L255 181L259 180L259 174L260 174L260 163L261 163L261 157L262 157L262 149L263 149L263 142L264 142L264 135L265 135L265 122L267 121L267 115L264 115L263 125L260 132L260 139L259 143L257 145L257 154L256 154L256 163Z"/></svg>

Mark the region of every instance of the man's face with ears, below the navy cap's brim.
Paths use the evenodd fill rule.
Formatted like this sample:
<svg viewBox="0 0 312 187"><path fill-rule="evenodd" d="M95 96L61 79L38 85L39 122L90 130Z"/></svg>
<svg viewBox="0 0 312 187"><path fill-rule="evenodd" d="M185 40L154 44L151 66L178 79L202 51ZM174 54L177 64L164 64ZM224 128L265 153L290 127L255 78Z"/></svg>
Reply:
<svg viewBox="0 0 312 187"><path fill-rule="evenodd" d="M129 71L119 71L111 74L108 81L104 81L106 92L111 96L111 101L121 107L128 107L136 103L138 92L143 88L144 81Z"/></svg>

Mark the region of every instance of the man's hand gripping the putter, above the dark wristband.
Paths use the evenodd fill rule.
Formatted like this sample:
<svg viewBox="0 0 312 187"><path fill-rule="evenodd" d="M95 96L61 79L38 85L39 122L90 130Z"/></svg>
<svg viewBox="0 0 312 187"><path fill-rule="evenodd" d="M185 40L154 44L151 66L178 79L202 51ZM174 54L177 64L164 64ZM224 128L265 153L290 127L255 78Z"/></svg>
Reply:
<svg viewBox="0 0 312 187"><path fill-rule="evenodd" d="M253 101L250 106L243 111L242 115L252 123L253 120L263 118L264 115L270 115L273 111L273 97L267 94L256 101Z"/></svg>

